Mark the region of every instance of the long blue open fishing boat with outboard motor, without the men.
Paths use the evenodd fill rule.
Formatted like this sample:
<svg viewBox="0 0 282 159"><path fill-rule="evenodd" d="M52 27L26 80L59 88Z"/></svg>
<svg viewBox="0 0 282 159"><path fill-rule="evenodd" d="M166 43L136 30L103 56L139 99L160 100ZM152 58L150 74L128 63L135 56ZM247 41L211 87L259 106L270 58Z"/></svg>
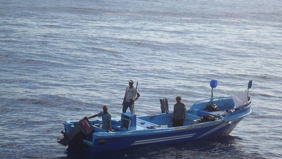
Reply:
<svg viewBox="0 0 282 159"><path fill-rule="evenodd" d="M248 89L229 97L214 97L213 88L217 81L210 82L212 96L194 103L186 111L183 126L173 127L172 112L138 116L130 112L123 113L121 118L112 120L112 131L101 128L101 120L83 120L64 122L63 145L77 146L91 152L119 150L149 144L171 144L188 142L195 139L214 138L228 135L245 116L252 112L251 97ZM81 125L82 128L77 128ZM84 133L81 133L81 129ZM76 131L76 132L74 132ZM77 137L75 134L85 134ZM68 142L66 142L66 138ZM62 140L65 140L62 143Z"/></svg>

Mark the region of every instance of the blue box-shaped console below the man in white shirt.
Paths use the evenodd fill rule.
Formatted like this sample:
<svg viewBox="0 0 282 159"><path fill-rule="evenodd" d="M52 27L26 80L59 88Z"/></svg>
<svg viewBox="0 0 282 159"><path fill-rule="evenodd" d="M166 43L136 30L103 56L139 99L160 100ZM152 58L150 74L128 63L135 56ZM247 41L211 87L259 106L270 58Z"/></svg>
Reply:
<svg viewBox="0 0 282 159"><path fill-rule="evenodd" d="M133 114L133 116L131 117L130 112L125 112L121 114L120 130L121 131L136 130L136 115Z"/></svg>

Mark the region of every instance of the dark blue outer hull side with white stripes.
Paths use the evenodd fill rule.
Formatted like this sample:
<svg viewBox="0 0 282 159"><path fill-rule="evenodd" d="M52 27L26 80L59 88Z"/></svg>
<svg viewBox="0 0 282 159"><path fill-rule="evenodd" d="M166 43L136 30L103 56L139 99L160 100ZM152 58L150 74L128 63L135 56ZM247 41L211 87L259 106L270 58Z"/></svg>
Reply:
<svg viewBox="0 0 282 159"><path fill-rule="evenodd" d="M221 122L196 129L179 127L179 129L175 129L171 133L164 132L162 134L146 134L140 136L96 138L94 139L94 145L89 146L88 150L94 153L106 150L127 149L136 146L167 145L196 139L214 138L221 135L228 135L240 120L242 118L233 122Z"/></svg>

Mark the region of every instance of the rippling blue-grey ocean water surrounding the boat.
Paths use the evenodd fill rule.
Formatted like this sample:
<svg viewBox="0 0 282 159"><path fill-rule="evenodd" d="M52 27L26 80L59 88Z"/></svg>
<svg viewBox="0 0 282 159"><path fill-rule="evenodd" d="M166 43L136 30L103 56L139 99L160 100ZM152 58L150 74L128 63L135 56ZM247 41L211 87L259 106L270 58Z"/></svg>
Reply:
<svg viewBox="0 0 282 159"><path fill-rule="evenodd" d="M0 0L0 158L282 158L282 3ZM136 114L247 88L253 112L214 140L89 154L59 145L65 120L109 106L128 79Z"/></svg>

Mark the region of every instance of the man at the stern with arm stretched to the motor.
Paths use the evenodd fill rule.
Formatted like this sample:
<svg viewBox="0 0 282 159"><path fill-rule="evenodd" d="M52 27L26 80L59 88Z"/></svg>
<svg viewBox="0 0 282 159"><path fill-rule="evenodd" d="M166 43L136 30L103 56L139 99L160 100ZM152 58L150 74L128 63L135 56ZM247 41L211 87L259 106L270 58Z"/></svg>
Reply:
<svg viewBox="0 0 282 159"><path fill-rule="evenodd" d="M108 107L106 105L103 106L103 112L100 112L98 114L90 116L90 117L88 117L88 119L95 118L97 116L99 116L99 117L101 116L102 117L102 122L103 122L102 128L104 130L111 131L112 130L112 126L111 126L111 120L112 120L111 117L112 117L112 115L108 112Z"/></svg>

